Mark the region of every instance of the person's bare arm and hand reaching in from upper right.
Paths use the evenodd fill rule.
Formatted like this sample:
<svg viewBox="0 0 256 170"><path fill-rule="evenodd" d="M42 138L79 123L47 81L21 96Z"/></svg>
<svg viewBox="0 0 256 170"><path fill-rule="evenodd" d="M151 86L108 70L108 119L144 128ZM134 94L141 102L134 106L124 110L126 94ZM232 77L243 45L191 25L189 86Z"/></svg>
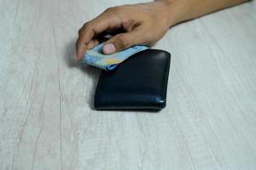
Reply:
<svg viewBox="0 0 256 170"><path fill-rule="evenodd" d="M102 32L119 28L125 31L104 42L103 53L113 54L137 44L151 46L179 22L245 2L247 0L158 0L108 8L80 28L77 59L99 43L96 37Z"/></svg>

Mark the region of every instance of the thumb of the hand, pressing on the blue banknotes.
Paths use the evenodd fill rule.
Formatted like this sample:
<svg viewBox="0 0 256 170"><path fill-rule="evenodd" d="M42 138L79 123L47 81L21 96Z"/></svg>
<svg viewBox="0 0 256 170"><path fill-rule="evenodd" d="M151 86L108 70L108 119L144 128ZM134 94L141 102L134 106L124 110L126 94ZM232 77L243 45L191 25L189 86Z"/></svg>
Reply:
<svg viewBox="0 0 256 170"><path fill-rule="evenodd" d="M148 45L150 42L151 34L147 32L147 28L138 26L133 31L118 34L105 42L103 53L113 54L133 45Z"/></svg>

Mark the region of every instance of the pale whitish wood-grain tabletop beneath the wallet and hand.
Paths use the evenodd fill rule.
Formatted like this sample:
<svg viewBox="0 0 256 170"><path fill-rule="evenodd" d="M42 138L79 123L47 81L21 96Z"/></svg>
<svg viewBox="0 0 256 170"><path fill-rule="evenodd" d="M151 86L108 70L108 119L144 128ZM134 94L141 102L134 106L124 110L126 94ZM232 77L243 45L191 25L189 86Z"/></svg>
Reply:
<svg viewBox="0 0 256 170"><path fill-rule="evenodd" d="M166 109L94 111L84 21L139 0L0 0L0 169L256 169L256 3L172 27Z"/></svg>

